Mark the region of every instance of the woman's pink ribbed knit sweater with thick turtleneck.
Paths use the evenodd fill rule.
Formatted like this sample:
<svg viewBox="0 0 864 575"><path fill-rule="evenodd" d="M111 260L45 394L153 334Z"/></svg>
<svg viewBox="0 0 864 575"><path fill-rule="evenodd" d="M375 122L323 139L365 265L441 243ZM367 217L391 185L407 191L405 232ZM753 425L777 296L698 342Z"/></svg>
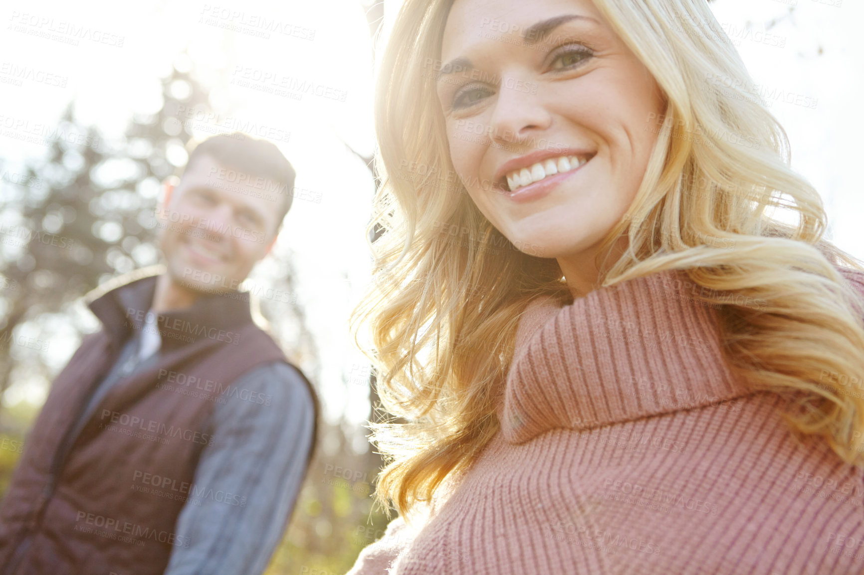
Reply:
<svg viewBox="0 0 864 575"><path fill-rule="evenodd" d="M736 381L676 277L530 306L499 433L350 575L864 573L862 471Z"/></svg>

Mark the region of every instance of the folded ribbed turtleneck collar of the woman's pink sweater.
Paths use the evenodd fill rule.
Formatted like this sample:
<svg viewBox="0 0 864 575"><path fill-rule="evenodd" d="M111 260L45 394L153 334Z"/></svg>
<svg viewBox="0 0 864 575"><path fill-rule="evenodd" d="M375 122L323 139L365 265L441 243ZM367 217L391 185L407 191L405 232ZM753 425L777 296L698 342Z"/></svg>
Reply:
<svg viewBox="0 0 864 575"><path fill-rule="evenodd" d="M505 439L518 444L550 429L589 429L752 393L721 357L715 309L692 294L686 276L660 272L569 306L532 302L498 409Z"/></svg>

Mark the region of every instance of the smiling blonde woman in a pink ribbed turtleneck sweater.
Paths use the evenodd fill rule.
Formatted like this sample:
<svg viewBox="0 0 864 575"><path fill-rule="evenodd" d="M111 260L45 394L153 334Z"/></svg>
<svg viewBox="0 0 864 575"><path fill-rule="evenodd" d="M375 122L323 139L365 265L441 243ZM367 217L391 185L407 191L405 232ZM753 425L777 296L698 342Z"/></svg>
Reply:
<svg viewBox="0 0 864 575"><path fill-rule="evenodd" d="M406 0L353 574L864 572L864 275L747 85L704 0Z"/></svg>

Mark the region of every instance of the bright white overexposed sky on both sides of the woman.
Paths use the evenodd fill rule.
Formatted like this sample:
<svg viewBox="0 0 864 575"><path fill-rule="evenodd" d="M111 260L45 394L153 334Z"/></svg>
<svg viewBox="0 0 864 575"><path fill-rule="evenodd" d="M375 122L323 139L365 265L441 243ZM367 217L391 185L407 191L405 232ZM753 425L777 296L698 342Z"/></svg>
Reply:
<svg viewBox="0 0 864 575"><path fill-rule="evenodd" d="M785 47L754 41L751 38L762 36L751 34L743 37L739 50L766 93L817 100L815 109L774 101L771 110L790 136L793 167L823 193L835 242L864 257L864 226L858 221L864 196L857 170L864 112L854 101L864 88L864 39L856 29L864 22L864 6L852 0L842 0L840 8L831 5L837 2L797 0L795 19L771 30L785 38ZM388 22L398 4L385 3ZM788 8L776 0L719 0L715 14L733 29L742 29L749 20L758 31ZM4 4L0 17L3 126L54 126L67 102L74 100L82 122L119 136L131 111L158 109L159 78L178 61L177 54L187 50L198 78L213 86L217 122L234 117L290 132L287 142L276 144L297 169L296 185L321 201L295 200L279 250L285 254L290 248L295 258L299 301L319 346L317 379L325 416L330 421L343 414L353 422L364 420L368 401L365 386L358 382L365 360L348 337L346 317L368 278L364 229L373 188L366 168L342 143L364 154L373 146L372 53L359 2L156 0L131 6L99 0L12 0ZM289 34L256 35L262 19L280 22ZM80 28L83 35L70 31ZM823 54L817 56L820 48ZM11 84L7 80L12 76L4 75L10 66L32 68L46 80ZM255 81L258 78L268 80ZM238 80L251 82L242 85ZM323 95L307 92L298 100L261 90L303 81L320 85ZM199 136L213 129L206 121L196 126ZM10 137L3 128L0 158L7 166L45 149ZM259 270L260 275L265 272ZM46 389L16 386L5 400L38 403Z"/></svg>

